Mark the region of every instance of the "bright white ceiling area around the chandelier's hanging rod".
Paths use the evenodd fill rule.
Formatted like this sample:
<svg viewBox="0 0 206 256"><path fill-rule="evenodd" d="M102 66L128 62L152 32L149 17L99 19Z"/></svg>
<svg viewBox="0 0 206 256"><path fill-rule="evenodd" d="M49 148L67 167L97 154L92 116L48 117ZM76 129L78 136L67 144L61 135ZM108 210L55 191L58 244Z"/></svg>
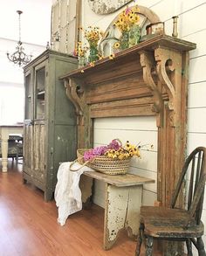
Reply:
<svg viewBox="0 0 206 256"><path fill-rule="evenodd" d="M1 1L1 38L18 39L18 14L22 10L22 41L46 45L50 41L52 0L9 0Z"/></svg>

